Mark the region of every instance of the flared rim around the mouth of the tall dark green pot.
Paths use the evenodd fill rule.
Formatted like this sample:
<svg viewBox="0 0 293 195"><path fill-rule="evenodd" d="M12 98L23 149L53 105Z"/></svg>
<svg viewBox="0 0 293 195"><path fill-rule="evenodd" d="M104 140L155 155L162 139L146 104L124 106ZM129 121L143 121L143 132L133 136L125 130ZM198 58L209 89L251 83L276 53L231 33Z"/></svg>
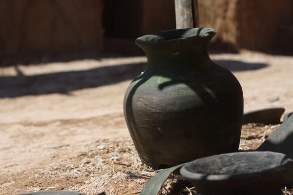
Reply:
<svg viewBox="0 0 293 195"><path fill-rule="evenodd" d="M200 33L201 31L204 31L204 32ZM172 36L180 32L185 34L182 34L180 38L172 38ZM170 43L178 43L181 41L187 41L190 39L201 39L205 37L212 38L215 34L216 34L216 30L212 28L206 28L206 27L173 29L173 30L166 30L166 31L144 35L142 37L137 38L135 40L135 43L137 45L166 44L166 43L170 44ZM162 36L166 36L165 38L167 39L160 40Z"/></svg>

